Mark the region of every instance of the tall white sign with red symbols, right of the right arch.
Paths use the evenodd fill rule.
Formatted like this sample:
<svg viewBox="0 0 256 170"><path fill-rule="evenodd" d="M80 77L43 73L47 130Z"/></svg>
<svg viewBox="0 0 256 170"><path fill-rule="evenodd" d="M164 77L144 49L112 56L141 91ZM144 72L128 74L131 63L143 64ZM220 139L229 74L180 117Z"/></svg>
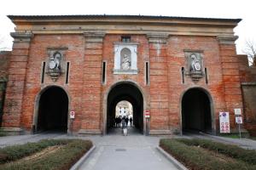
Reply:
<svg viewBox="0 0 256 170"><path fill-rule="evenodd" d="M230 133L229 112L219 112L219 131L220 133Z"/></svg>

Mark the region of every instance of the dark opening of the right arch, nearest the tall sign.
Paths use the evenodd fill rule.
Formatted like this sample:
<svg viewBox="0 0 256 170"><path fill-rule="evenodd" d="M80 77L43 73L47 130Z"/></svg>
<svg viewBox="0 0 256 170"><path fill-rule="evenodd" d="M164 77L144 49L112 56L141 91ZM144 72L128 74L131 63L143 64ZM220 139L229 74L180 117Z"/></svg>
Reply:
<svg viewBox="0 0 256 170"><path fill-rule="evenodd" d="M203 90L192 88L183 94L183 132L212 133L211 115L211 101Z"/></svg>

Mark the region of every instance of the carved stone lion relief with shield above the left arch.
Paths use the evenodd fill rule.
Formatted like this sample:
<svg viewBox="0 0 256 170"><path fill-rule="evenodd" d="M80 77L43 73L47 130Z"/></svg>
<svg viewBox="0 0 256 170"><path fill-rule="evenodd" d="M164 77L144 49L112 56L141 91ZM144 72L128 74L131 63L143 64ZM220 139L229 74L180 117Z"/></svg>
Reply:
<svg viewBox="0 0 256 170"><path fill-rule="evenodd" d="M65 51L67 48L48 48L49 58L46 62L46 73L51 79L56 80L65 72Z"/></svg>

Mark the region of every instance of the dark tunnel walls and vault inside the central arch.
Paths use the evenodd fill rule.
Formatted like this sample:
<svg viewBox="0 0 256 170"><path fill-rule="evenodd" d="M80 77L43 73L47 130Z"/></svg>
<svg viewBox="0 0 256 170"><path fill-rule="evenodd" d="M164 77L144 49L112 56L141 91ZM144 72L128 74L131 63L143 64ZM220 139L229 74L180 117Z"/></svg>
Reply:
<svg viewBox="0 0 256 170"><path fill-rule="evenodd" d="M121 83L115 86L108 94L107 133L114 127L115 108L119 101L126 100L132 105L133 125L143 133L143 94L130 84Z"/></svg>

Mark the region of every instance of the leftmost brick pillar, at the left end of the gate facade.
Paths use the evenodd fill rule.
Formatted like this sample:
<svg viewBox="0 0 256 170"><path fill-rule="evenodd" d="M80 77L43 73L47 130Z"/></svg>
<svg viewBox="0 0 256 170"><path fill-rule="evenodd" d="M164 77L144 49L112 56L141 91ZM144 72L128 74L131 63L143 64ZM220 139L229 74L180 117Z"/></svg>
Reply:
<svg viewBox="0 0 256 170"><path fill-rule="evenodd" d="M20 116L26 83L26 65L28 61L31 32L13 32L15 38L12 55L9 61L9 82L3 108L3 128L20 133Z"/></svg>

